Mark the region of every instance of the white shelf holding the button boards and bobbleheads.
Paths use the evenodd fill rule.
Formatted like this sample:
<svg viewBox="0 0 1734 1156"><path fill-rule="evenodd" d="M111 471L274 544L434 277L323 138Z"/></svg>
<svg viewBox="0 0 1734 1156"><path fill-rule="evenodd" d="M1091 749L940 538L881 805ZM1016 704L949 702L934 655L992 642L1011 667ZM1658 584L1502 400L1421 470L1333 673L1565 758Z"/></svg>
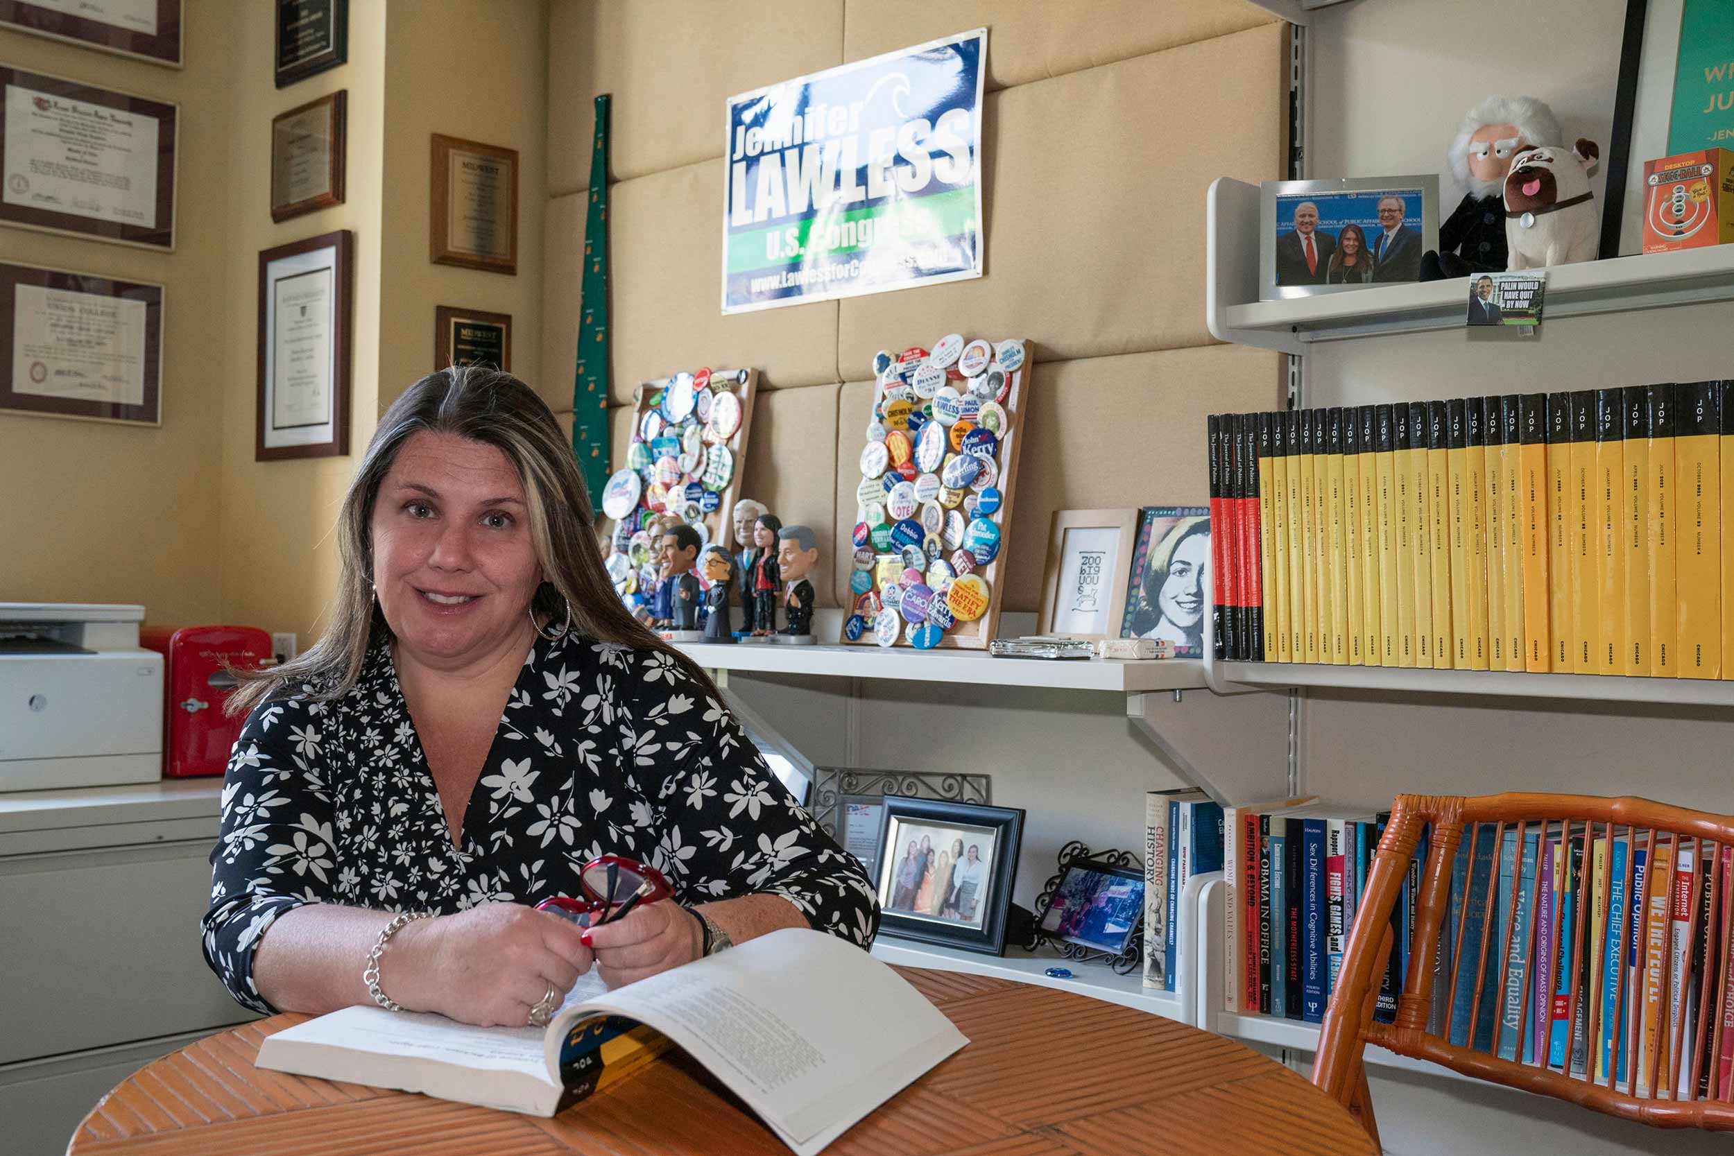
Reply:
<svg viewBox="0 0 1734 1156"><path fill-rule="evenodd" d="M780 643L675 643L694 662L716 671L803 674L822 678L888 678L916 683L981 686L1046 686L1051 690L1203 688L1200 659L995 659L985 650L881 650L879 646L784 646Z"/></svg>

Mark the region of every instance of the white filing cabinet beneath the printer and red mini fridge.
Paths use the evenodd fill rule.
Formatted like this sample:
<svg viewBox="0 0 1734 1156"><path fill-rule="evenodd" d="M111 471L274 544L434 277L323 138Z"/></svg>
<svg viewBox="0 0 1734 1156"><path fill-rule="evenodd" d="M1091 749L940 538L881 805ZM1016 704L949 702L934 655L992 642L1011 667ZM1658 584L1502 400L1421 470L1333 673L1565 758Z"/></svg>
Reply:
<svg viewBox="0 0 1734 1156"><path fill-rule="evenodd" d="M217 778L0 794L0 1121L59 1156L114 1083L251 1014L199 953Z"/></svg>

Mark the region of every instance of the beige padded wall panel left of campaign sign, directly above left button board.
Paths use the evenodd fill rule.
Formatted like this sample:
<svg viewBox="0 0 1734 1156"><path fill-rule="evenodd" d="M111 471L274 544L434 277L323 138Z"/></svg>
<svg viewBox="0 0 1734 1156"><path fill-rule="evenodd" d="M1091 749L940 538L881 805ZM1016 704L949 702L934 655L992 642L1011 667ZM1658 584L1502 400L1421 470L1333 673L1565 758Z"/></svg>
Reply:
<svg viewBox="0 0 1734 1156"><path fill-rule="evenodd" d="M723 317L720 159L623 180L612 198L616 402L638 381L701 366L756 366L766 390L838 381L836 302Z"/></svg>

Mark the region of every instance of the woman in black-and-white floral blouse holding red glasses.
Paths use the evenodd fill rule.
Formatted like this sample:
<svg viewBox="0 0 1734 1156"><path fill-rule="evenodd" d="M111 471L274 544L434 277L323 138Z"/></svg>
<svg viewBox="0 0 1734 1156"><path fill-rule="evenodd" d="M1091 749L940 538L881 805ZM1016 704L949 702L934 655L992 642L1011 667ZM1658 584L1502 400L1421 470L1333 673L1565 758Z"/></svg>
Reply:
<svg viewBox="0 0 1734 1156"><path fill-rule="evenodd" d="M591 964L619 986L779 927L872 941L872 884L626 612L591 525L517 378L444 369L380 419L329 629L231 705L203 946L238 1002L546 1023ZM605 853L673 899L532 910Z"/></svg>

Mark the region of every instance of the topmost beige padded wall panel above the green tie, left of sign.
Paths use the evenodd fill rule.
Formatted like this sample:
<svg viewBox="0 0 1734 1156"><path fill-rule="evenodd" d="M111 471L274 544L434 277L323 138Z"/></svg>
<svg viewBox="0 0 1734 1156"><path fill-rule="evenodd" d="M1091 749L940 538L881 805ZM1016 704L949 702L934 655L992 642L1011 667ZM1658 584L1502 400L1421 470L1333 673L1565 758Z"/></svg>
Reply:
<svg viewBox="0 0 1734 1156"><path fill-rule="evenodd" d="M553 0L548 191L588 187L598 92L614 95L609 172L626 180L720 158L728 97L841 62L843 0Z"/></svg>

